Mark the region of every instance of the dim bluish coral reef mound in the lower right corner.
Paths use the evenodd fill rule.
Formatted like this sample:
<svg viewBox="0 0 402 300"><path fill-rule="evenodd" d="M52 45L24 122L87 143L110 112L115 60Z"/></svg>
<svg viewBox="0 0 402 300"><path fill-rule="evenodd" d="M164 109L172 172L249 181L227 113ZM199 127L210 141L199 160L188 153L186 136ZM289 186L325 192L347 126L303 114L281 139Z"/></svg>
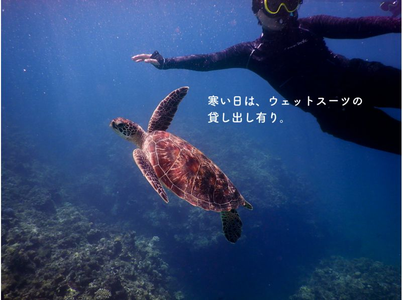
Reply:
<svg viewBox="0 0 402 300"><path fill-rule="evenodd" d="M400 270L367 258L322 260L290 300L400 299Z"/></svg>

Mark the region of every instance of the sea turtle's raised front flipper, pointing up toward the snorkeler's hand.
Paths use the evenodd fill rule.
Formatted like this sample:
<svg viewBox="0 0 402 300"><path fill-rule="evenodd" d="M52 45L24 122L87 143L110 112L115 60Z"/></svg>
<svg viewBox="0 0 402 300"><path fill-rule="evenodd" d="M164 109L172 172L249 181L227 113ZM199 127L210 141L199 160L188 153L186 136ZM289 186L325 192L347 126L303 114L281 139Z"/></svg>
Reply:
<svg viewBox="0 0 402 300"><path fill-rule="evenodd" d="M164 131L169 127L177 111L177 107L187 94L187 91L188 86L180 87L167 95L166 98L159 103L149 120L148 133L155 130Z"/></svg>

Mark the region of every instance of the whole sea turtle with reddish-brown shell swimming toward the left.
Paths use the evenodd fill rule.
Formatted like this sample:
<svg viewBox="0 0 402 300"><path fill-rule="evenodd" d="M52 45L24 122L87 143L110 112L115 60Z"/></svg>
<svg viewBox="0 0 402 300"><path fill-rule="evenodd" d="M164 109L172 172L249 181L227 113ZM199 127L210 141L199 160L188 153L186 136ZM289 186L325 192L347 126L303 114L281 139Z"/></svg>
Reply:
<svg viewBox="0 0 402 300"><path fill-rule="evenodd" d="M253 209L244 200L228 177L196 147L180 137L166 132L188 87L172 91L163 99L148 124L148 132L140 125L118 117L110 126L138 148L133 157L142 174L167 203L161 182L174 194L194 206L220 212L223 231L228 241L235 243L242 229L236 209Z"/></svg>

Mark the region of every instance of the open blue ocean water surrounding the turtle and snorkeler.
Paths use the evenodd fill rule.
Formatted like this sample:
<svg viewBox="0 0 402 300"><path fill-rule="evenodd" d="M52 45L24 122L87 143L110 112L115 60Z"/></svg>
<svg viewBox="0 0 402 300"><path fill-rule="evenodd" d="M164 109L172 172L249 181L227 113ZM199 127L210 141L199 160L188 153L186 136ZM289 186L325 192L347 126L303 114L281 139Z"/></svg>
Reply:
<svg viewBox="0 0 402 300"><path fill-rule="evenodd" d="M387 15L377 2L306 0L299 10L317 14ZM251 1L2 1L2 163L11 155L41 162L76 187L80 199L71 202L124 230L159 236L189 299L285 299L330 255L399 266L400 156L323 133L293 106L275 108L283 123L208 123L212 95L252 96L268 112L268 99L279 95L243 69L160 71L131 61L155 50L216 52L260 33ZM326 41L348 58L400 68L400 34ZM235 245L220 233L218 214L204 220L172 194L165 205L135 166L134 145L109 128L118 116L146 127L159 101L181 86L190 89L169 131L213 159L254 205L239 210L243 238ZM388 112L400 119L400 110Z"/></svg>

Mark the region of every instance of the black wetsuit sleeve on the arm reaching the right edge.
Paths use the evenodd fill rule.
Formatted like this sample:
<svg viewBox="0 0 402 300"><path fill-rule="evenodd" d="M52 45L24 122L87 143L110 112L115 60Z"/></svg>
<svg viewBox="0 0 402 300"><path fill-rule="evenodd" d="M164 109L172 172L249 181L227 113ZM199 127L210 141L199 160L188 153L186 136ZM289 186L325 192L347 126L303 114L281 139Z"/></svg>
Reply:
<svg viewBox="0 0 402 300"><path fill-rule="evenodd" d="M312 16L299 20L302 28L331 39L365 39L387 33L400 33L400 18L338 18Z"/></svg>

